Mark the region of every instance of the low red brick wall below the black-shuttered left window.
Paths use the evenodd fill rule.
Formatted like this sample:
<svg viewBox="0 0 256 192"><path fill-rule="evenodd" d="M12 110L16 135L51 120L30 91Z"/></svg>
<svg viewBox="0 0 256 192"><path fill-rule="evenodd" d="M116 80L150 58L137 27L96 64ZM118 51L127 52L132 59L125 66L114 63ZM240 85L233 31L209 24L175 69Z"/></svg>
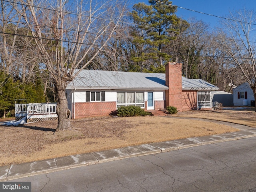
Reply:
<svg viewBox="0 0 256 192"><path fill-rule="evenodd" d="M116 110L116 102L83 102L75 104L75 118L104 116Z"/></svg>

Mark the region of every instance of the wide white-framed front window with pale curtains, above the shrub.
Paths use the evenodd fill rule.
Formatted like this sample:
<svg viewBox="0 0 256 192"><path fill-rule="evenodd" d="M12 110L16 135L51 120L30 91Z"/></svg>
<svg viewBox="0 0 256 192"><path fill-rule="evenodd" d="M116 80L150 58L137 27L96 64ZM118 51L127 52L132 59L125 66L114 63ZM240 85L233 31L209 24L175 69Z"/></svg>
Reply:
<svg viewBox="0 0 256 192"><path fill-rule="evenodd" d="M144 92L117 92L117 107L120 106L140 106L144 108Z"/></svg>

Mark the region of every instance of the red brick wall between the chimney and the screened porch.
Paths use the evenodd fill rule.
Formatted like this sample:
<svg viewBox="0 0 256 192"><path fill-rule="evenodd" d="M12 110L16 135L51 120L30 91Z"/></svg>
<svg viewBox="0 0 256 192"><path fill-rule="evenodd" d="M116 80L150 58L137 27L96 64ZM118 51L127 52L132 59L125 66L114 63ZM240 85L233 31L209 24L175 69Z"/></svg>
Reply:
<svg viewBox="0 0 256 192"><path fill-rule="evenodd" d="M197 90L182 91L182 110L197 110Z"/></svg>

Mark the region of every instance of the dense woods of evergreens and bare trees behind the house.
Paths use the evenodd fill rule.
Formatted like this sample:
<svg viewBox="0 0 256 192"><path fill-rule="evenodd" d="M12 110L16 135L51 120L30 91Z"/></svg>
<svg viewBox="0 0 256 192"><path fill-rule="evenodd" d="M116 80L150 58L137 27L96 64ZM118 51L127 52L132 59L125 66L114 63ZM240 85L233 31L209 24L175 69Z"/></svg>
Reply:
<svg viewBox="0 0 256 192"><path fill-rule="evenodd" d="M243 75L223 50L220 35L201 20L179 18L176 7L170 4L168 0L134 4L132 10L127 10L125 22L87 68L164 73L167 62L181 62L183 76L203 79L232 92L232 85L240 84ZM14 102L55 102L56 91L42 58L34 51L32 32L13 6L3 1L1 5L0 116L12 116ZM105 38L96 43L103 45ZM49 54L54 51L52 44L57 42L47 30L40 40L49 44ZM85 51L86 46L81 55ZM90 59L88 54L81 66Z"/></svg>

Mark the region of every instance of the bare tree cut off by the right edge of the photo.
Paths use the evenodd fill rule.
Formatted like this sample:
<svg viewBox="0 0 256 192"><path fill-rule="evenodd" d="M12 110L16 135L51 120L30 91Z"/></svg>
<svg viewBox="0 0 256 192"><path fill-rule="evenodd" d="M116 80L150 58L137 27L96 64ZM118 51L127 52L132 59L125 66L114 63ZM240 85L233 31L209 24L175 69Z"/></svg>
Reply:
<svg viewBox="0 0 256 192"><path fill-rule="evenodd" d="M242 71L256 100L255 23L256 15L253 11L244 9L234 14L230 13L229 20L222 22L223 30L220 31L220 36L222 36L223 50Z"/></svg>

